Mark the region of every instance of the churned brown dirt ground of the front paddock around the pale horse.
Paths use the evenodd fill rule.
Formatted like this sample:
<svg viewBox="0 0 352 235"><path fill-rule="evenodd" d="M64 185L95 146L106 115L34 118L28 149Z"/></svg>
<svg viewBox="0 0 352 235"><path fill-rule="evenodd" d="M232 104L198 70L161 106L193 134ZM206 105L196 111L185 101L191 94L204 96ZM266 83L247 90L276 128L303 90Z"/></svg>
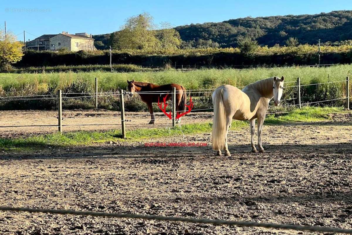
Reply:
<svg viewBox="0 0 352 235"><path fill-rule="evenodd" d="M352 121L231 131L206 147L45 148L0 153L0 205L352 227ZM3 132L1 132L4 135ZM7 134L6 134L7 135ZM210 133L146 140L210 144ZM0 212L0 234L323 234L207 224Z"/></svg>

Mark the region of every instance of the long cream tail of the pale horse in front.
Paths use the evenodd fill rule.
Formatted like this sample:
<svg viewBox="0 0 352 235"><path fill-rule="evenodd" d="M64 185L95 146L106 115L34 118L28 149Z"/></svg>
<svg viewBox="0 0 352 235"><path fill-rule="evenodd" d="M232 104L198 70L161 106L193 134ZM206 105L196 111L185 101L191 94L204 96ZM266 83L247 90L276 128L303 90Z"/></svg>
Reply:
<svg viewBox="0 0 352 235"><path fill-rule="evenodd" d="M216 89L213 93L214 118L212 144L214 150L225 149L226 110L222 99L223 94L223 87Z"/></svg>

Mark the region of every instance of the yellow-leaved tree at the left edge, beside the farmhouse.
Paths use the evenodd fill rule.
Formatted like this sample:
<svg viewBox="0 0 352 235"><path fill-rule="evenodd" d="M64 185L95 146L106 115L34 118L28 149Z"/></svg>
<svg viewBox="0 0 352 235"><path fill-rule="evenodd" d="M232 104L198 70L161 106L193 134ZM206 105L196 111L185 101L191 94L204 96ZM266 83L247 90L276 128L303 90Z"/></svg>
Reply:
<svg viewBox="0 0 352 235"><path fill-rule="evenodd" d="M5 34L0 31L0 65L7 69L12 63L16 63L22 59L23 44L18 42L12 33Z"/></svg>

